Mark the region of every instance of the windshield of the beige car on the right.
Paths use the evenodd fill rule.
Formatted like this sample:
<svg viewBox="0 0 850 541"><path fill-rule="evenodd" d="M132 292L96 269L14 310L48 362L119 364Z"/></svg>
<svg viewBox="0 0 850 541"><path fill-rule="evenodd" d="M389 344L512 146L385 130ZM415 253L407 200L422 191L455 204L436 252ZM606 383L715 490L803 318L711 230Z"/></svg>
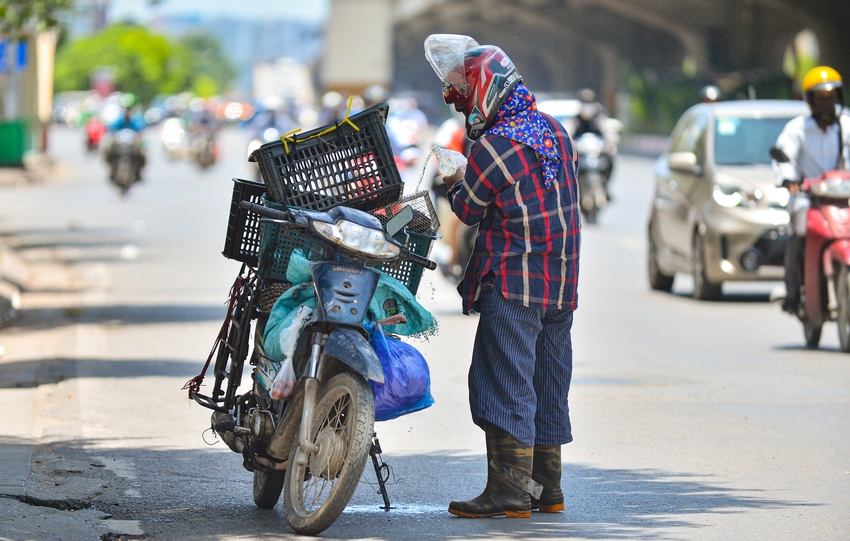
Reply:
<svg viewBox="0 0 850 541"><path fill-rule="evenodd" d="M788 118L719 117L715 124L714 163L717 165L770 164L770 147Z"/></svg>

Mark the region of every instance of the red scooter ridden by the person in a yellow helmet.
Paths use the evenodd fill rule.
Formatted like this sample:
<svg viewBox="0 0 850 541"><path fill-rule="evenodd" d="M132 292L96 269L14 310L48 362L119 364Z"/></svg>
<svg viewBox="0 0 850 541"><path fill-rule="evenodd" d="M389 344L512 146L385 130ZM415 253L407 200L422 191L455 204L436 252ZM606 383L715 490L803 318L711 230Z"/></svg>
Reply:
<svg viewBox="0 0 850 541"><path fill-rule="evenodd" d="M791 161L776 147L770 154L779 163ZM808 347L818 347L823 324L836 321L841 349L850 353L850 171L804 179L801 189L811 206L797 317Z"/></svg>

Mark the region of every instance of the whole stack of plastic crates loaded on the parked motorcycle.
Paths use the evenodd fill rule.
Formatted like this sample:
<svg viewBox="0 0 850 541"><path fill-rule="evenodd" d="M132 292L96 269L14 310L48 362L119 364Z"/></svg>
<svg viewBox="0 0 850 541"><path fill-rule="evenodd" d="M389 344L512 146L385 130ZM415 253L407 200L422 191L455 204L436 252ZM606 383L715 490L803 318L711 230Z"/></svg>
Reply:
<svg viewBox="0 0 850 541"><path fill-rule="evenodd" d="M284 206L327 210L346 205L372 213L386 224L405 205L414 221L396 238L412 252L427 257L439 223L427 192L401 199L403 182L396 169L384 122L389 106L380 104L304 134L285 136L255 150L263 184L234 179L225 257L259 268L267 280L286 280L289 257L296 248L321 257L290 228L260 222L259 215L239 208L249 200L273 208ZM378 266L416 293L422 267L409 261Z"/></svg>

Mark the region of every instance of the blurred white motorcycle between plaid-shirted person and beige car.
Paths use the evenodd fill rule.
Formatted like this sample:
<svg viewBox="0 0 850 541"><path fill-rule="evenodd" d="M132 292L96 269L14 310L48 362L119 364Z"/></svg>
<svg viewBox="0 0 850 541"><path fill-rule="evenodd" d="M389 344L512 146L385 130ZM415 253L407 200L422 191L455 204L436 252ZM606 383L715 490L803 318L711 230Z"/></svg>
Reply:
<svg viewBox="0 0 850 541"><path fill-rule="evenodd" d="M599 211L608 205L611 157L605 152L605 140L596 133L583 133L575 145L579 156L579 205L584 219L593 224Z"/></svg>

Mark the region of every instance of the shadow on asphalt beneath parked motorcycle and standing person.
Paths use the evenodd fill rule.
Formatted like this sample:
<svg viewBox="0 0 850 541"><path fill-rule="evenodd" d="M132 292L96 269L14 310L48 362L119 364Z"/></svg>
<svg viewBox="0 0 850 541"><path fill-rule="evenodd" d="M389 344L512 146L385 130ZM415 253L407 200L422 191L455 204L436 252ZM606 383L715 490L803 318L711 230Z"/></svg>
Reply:
<svg viewBox="0 0 850 541"><path fill-rule="evenodd" d="M116 446L127 443L122 440ZM116 519L141 521L153 539L292 539L282 498L271 510L254 506L252 474L241 467L236 454L222 453L218 447L110 449L108 440L82 444L97 448L85 454L97 455L96 461L106 464L106 470L110 463L132 464L134 470L133 479L109 480L115 490L93 496L93 506L109 510ZM70 447L79 452L77 445ZM528 520L461 519L449 515L446 506L452 499L474 497L483 488L484 457L451 453L394 457L387 451L390 446L386 442L384 459L393 469L391 482L396 481L388 488L394 509L380 509L381 498L373 490L375 473L367 464L350 505L323 539L662 539L681 535L683 528L710 527L711 519L705 515L820 505L775 499L757 487L731 487L683 472L566 464L564 512L535 512ZM70 456L74 449L64 453ZM140 496L123 497L124 485L135 487Z"/></svg>

